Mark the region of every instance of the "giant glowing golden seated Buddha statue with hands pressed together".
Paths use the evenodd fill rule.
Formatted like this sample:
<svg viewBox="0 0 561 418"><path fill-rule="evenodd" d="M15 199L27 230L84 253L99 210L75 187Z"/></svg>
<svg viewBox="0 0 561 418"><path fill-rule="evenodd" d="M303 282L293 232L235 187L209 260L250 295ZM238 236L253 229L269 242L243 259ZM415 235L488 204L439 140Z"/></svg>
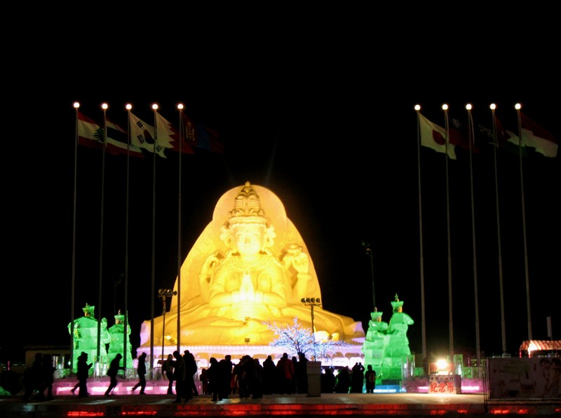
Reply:
<svg viewBox="0 0 561 418"><path fill-rule="evenodd" d="M234 209L232 209L234 207ZM177 281L174 290L177 290ZM316 270L283 204L270 190L250 185L220 197L212 222L181 267L180 329L183 345L266 345L275 337L264 322L311 328L302 298L320 298ZM348 316L314 309L317 337L347 340L365 336ZM177 296L165 315L165 335L177 337ZM154 319L161 344L162 316ZM140 332L150 344L150 321Z"/></svg>

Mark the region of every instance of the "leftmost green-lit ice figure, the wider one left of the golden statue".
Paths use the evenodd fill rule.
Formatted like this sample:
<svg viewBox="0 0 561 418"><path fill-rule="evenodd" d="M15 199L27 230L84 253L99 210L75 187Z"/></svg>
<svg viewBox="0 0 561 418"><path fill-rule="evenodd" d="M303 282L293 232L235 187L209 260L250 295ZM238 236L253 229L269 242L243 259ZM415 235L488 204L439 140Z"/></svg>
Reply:
<svg viewBox="0 0 561 418"><path fill-rule="evenodd" d="M74 319L74 347L72 347L72 370L76 372L78 368L78 357L82 351L88 354L88 361L100 361L102 364L107 362L106 344L109 344L109 331L107 330L107 319L102 318L100 323L101 342L100 342L100 358L97 358L97 319L93 316L95 306L86 306L82 308L83 315L81 318ZM72 322L68 324L68 332L72 332ZM90 369L90 373L93 372Z"/></svg>

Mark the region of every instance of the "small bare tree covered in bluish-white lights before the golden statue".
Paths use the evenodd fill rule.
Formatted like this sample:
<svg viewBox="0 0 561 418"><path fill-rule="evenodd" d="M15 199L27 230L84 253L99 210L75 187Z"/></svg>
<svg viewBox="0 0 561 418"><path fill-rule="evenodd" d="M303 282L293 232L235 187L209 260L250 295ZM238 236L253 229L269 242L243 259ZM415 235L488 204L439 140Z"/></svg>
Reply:
<svg viewBox="0 0 561 418"><path fill-rule="evenodd" d="M349 347L351 344L344 341L317 340L311 333L310 328L303 328L298 323L298 318L294 319L294 325L277 326L276 323L263 322L278 337L269 343L273 348L280 348L289 356L304 354L306 358L319 361L320 358L327 358L328 354L336 351L337 347Z"/></svg>

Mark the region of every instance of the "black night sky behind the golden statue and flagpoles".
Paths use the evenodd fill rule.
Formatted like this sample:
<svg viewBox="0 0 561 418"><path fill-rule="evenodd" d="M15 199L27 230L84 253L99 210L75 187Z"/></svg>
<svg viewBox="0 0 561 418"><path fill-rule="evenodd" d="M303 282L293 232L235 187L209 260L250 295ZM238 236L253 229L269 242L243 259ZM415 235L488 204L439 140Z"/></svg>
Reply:
<svg viewBox="0 0 561 418"><path fill-rule="evenodd" d="M107 116L123 127L126 103L148 123L153 123L151 104L157 103L159 113L178 124L176 106L182 102L184 112L218 130L224 144L224 153L198 149L183 156L184 256L211 221L223 193L245 181L265 186L280 197L308 246L323 307L363 321L367 330L372 271L362 242L369 241L374 245L377 308L389 321L390 302L398 294L404 312L415 321L408 332L410 348L420 353L414 105L443 126L443 103L450 105L451 118L467 123L465 105L470 102L475 123L489 126L489 104L494 102L499 120L518 133L514 104L520 102L522 112L559 143L558 54L550 50L547 25L520 39L489 25L497 36L494 43L476 43L461 28L440 34L428 25L431 29L424 27L414 38L413 30L403 32L403 41L397 41L360 14L348 11L335 19L337 13L330 11L321 23L278 15L228 26L206 16L209 25L200 25L202 19L197 25L204 32L185 25L179 37L168 33L170 25L154 36L131 24L97 36L87 30L93 23L76 23L74 41L63 27L49 25L45 31L46 25L38 25L32 28L33 45L8 48L13 65L5 81L12 87L4 119L0 360L22 358L28 344L70 341L75 101L82 113L100 123L100 106L107 102ZM518 155L499 151L506 346L516 354L528 336L520 167ZM177 275L178 155L166 151L168 158L156 157L156 293L151 295L153 158L144 155L130 159L128 310L134 347L140 323L150 319L152 301L154 315L161 315L158 288L172 288ZM448 162L454 348L473 356L470 162L466 151L457 155ZM107 155L105 160L99 307L102 160L100 152L82 146L77 157L74 316L83 314L87 302L96 305L96 316L101 309L110 326L124 300L124 284L115 285L115 278L124 272L126 158ZM532 334L538 340L549 338L548 316L553 338L561 337L560 158L530 153L522 162ZM420 160L427 351L445 354L445 155L421 148ZM496 193L489 144L473 155L472 167L481 350L500 354Z"/></svg>

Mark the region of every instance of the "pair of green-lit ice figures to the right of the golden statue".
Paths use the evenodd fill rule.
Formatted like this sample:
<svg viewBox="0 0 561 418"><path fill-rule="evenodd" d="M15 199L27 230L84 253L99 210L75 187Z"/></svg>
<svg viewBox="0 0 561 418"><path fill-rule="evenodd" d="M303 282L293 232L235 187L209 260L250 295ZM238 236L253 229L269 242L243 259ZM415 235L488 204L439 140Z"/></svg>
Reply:
<svg viewBox="0 0 561 418"><path fill-rule="evenodd" d="M393 315L389 324L381 320L383 312L377 312L374 307L363 344L364 364L372 365L378 384L384 380L402 380L404 370L409 370L412 361L407 328L413 319L403 313L403 300L397 294L391 306Z"/></svg>

